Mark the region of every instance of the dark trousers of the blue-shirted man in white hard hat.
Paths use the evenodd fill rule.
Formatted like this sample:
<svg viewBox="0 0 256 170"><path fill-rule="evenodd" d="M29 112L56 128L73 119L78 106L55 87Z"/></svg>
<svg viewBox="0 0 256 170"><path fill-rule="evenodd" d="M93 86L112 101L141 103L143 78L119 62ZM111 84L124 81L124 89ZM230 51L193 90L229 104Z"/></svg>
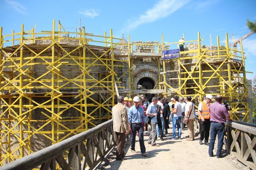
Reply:
<svg viewBox="0 0 256 170"><path fill-rule="evenodd" d="M135 141L136 141L136 133L138 132L139 142L140 142L140 151L141 153L146 152L146 147L144 144L144 135L143 135L143 124L135 124L132 123L132 138L131 138L131 150L135 150Z"/></svg>

